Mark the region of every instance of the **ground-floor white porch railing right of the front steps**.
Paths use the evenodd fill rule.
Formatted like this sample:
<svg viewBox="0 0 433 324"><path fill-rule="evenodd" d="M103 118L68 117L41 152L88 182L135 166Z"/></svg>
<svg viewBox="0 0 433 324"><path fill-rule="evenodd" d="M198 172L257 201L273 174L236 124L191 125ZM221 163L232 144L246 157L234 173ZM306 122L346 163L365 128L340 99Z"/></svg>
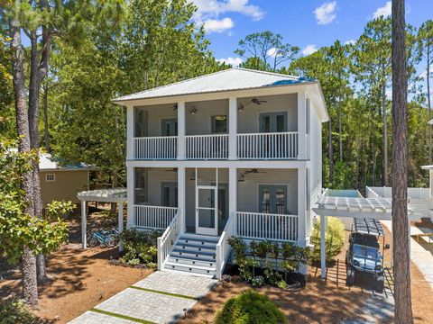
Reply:
<svg viewBox="0 0 433 324"><path fill-rule="evenodd" d="M298 215L237 211L237 235L296 242Z"/></svg>

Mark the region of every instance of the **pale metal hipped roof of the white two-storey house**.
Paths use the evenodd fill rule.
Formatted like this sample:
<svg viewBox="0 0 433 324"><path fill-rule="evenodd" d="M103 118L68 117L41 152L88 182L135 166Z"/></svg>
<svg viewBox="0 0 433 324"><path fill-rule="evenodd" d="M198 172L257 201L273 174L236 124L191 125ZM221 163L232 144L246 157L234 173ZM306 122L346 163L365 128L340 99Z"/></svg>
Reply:
<svg viewBox="0 0 433 324"><path fill-rule="evenodd" d="M117 97L113 102L120 103L129 100L182 94L204 94L265 86L299 85L302 83L318 83L318 81L307 77L288 76L280 73L232 67L205 76L197 76L170 85L162 85L139 93Z"/></svg>

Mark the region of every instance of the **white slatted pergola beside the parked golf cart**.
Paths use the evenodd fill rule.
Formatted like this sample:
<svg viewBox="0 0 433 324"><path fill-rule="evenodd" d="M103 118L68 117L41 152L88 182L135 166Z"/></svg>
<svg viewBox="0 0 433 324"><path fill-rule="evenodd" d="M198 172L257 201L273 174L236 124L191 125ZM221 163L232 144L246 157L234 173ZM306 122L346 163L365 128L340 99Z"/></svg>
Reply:
<svg viewBox="0 0 433 324"><path fill-rule="evenodd" d="M327 196L326 193L318 198L312 210L320 216L320 276L325 279L326 255L325 234L327 229L327 217L336 218L368 218L373 220L392 220L392 199L384 197L362 198ZM408 208L410 220L419 220L421 213ZM410 235L409 235L410 239Z"/></svg>

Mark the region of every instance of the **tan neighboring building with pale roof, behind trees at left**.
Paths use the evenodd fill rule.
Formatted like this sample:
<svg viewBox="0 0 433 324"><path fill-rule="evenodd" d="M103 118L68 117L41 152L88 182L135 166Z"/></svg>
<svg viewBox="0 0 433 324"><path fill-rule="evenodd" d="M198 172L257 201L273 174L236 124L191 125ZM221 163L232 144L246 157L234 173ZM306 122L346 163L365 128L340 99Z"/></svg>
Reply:
<svg viewBox="0 0 433 324"><path fill-rule="evenodd" d="M77 193L88 190L91 166L83 163L60 166L59 161L49 153L41 153L39 160L41 170L42 206L55 201L71 201L78 203Z"/></svg>

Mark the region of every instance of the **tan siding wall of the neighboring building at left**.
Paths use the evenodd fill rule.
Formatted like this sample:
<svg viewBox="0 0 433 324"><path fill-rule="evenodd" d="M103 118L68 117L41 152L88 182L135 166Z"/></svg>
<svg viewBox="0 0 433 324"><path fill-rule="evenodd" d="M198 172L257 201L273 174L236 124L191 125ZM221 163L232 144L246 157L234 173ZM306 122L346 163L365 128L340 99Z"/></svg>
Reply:
<svg viewBox="0 0 433 324"><path fill-rule="evenodd" d="M45 175L54 175L55 181L46 181ZM88 170L41 170L42 205L60 200L78 203L77 193L88 190Z"/></svg>

